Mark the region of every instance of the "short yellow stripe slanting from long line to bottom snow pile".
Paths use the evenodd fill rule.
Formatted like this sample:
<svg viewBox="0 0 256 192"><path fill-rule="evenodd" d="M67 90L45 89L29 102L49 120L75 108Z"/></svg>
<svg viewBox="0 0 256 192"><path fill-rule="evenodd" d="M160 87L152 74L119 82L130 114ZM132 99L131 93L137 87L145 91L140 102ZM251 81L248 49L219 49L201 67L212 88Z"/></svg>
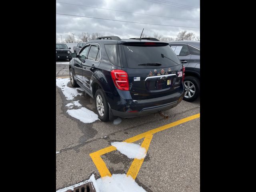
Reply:
<svg viewBox="0 0 256 192"><path fill-rule="evenodd" d="M147 135L141 144L141 147L146 148L146 152L148 152L148 147L150 145L152 137L153 137L153 135ZM143 161L144 161L144 158L142 158L142 159L135 158L126 175L132 176L132 178L135 180L136 176L138 175L138 173L140 171L140 167L141 167Z"/></svg>

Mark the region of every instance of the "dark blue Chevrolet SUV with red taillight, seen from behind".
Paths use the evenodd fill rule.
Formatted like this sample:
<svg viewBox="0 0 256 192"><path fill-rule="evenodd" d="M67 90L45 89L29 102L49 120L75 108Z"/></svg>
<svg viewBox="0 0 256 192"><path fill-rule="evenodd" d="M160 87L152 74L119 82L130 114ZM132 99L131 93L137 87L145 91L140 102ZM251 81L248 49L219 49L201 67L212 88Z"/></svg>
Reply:
<svg viewBox="0 0 256 192"><path fill-rule="evenodd" d="M104 36L71 57L71 84L94 98L102 121L168 110L184 96L185 68L166 42Z"/></svg>

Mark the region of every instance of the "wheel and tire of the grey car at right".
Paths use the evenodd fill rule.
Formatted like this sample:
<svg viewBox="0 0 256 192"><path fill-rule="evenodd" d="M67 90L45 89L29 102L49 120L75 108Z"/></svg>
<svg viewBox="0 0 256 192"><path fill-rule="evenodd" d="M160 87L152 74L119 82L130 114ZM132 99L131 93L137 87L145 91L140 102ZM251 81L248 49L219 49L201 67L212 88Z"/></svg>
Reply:
<svg viewBox="0 0 256 192"><path fill-rule="evenodd" d="M183 100L192 102L198 98L200 93L200 80L194 76L184 78L185 94Z"/></svg>

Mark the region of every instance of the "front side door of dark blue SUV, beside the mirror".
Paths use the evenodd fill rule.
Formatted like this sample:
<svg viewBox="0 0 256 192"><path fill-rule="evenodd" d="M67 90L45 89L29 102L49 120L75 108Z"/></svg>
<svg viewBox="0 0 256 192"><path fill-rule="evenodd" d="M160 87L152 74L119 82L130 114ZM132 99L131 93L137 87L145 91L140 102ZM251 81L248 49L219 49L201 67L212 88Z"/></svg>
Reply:
<svg viewBox="0 0 256 192"><path fill-rule="evenodd" d="M76 78L83 83L82 76L82 64L85 62L90 44L86 45L78 54L77 58L74 58L74 68Z"/></svg>

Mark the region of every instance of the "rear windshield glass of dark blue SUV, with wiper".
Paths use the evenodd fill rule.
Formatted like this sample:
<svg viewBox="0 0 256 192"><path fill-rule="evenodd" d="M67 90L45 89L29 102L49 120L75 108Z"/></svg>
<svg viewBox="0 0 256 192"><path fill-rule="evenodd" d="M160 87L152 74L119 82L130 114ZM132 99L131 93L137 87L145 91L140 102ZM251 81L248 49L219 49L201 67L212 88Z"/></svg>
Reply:
<svg viewBox="0 0 256 192"><path fill-rule="evenodd" d="M123 45L128 68L164 68L181 62L170 46Z"/></svg>

